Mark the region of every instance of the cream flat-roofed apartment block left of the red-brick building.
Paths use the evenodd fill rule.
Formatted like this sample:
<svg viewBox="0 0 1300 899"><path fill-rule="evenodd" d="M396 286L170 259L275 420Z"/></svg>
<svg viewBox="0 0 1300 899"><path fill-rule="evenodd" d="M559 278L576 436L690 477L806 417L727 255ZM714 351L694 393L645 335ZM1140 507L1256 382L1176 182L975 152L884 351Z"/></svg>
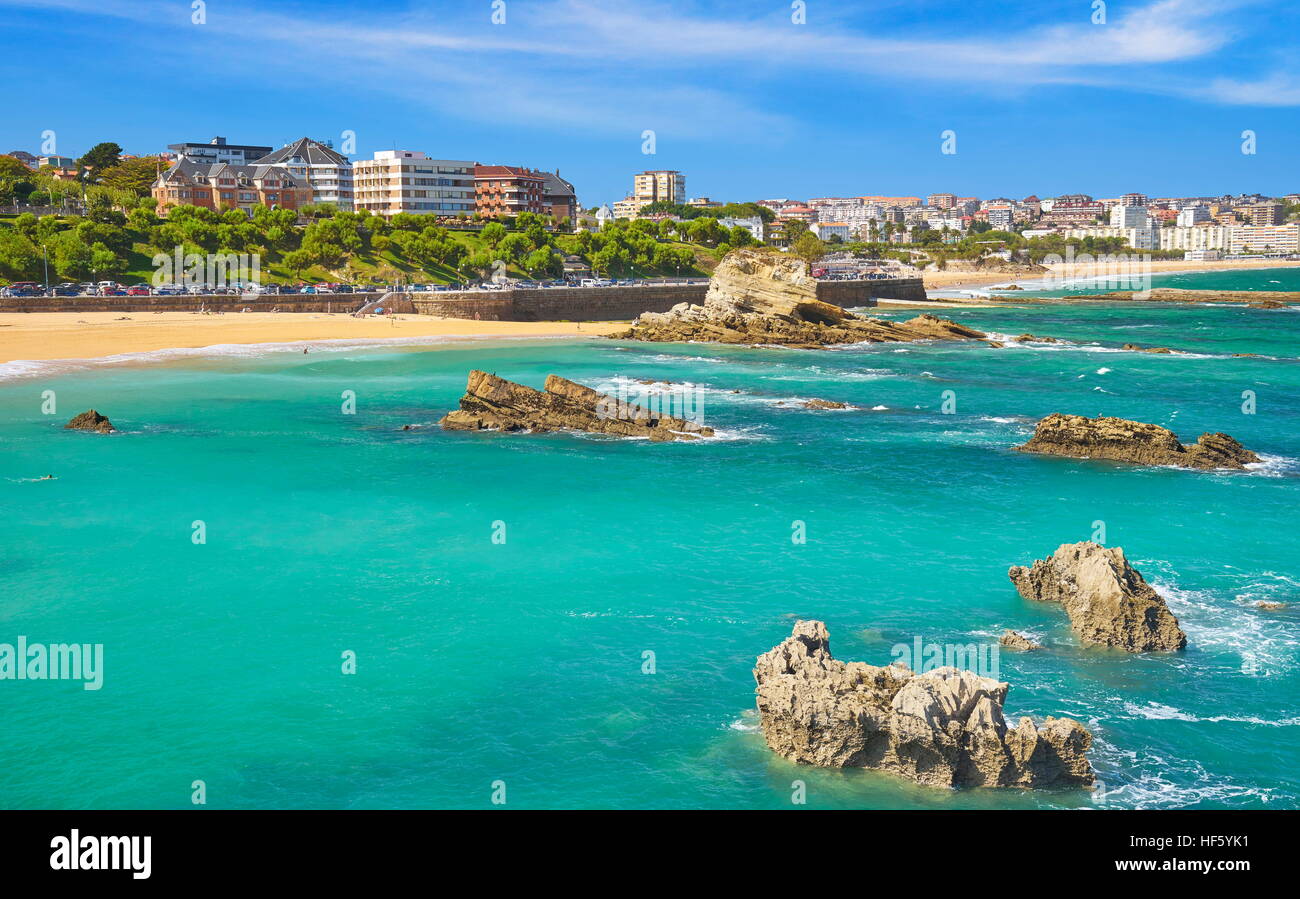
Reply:
<svg viewBox="0 0 1300 899"><path fill-rule="evenodd" d="M381 149L352 164L358 209L391 218L398 213L468 216L474 212L474 162L430 160L410 149Z"/></svg>

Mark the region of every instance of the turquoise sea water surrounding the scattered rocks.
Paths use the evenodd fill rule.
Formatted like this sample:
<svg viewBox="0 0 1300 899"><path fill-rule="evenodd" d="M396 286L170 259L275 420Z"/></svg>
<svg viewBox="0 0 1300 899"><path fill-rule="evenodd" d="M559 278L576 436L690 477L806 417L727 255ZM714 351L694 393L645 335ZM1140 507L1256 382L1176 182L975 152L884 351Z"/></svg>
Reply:
<svg viewBox="0 0 1300 899"><path fill-rule="evenodd" d="M1300 805L1300 314L954 317L1096 346L529 340L9 366L0 642L103 643L105 673L99 691L0 681L0 805L182 808L196 779L217 808L486 808L497 781L511 808L790 808L794 779L814 808L1096 804L774 757L750 669L798 617L874 664L916 637L1037 635L1046 651L1000 656L1008 712L1083 721L1104 805ZM399 430L451 408L471 368L690 382L722 437ZM811 396L854 408L792 401ZM61 429L90 407L121 433ZM1011 451L1056 411L1225 430L1266 462ZM1009 565L1095 522L1166 595L1186 653L1082 650L1060 608L1017 595Z"/></svg>

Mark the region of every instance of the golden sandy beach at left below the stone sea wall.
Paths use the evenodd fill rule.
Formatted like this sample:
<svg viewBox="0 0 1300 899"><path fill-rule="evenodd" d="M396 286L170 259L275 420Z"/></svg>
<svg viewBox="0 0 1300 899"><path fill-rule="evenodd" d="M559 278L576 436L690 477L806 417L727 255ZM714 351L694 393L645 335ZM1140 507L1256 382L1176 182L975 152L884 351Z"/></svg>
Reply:
<svg viewBox="0 0 1300 899"><path fill-rule="evenodd" d="M354 318L346 313L250 312L0 313L0 362L100 359L118 353L299 340L422 336L601 336L625 322L498 322L432 316Z"/></svg>

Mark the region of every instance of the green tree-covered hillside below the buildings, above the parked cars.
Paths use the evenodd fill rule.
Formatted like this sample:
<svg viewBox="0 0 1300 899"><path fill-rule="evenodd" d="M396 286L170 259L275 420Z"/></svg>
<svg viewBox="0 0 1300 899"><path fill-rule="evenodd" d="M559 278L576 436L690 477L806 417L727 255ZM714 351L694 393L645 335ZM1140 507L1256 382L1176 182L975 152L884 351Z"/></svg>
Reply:
<svg viewBox="0 0 1300 899"><path fill-rule="evenodd" d="M391 222L338 212L298 223L289 210L213 213L182 207L159 218L150 200L124 213L91 209L86 217L0 216L0 283L112 278L150 282L153 257L183 253L256 253L263 283L467 283L498 270L514 278L556 278L577 256L599 274L620 278L701 277L745 239L725 229L692 234L656 222L616 222L598 234L552 233L538 217L488 225L481 231L429 223L420 216ZM690 238L690 240L682 239Z"/></svg>

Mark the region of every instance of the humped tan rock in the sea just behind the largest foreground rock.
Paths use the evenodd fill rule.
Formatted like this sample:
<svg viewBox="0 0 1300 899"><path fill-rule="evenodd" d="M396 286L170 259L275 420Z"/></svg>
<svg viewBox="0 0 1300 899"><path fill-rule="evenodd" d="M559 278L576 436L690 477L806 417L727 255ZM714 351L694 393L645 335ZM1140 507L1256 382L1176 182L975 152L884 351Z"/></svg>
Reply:
<svg viewBox="0 0 1300 899"><path fill-rule="evenodd" d="M1061 603L1086 644L1128 652L1187 648L1178 618L1119 547L1062 543L1031 568L1013 565L1008 577L1026 599Z"/></svg>

